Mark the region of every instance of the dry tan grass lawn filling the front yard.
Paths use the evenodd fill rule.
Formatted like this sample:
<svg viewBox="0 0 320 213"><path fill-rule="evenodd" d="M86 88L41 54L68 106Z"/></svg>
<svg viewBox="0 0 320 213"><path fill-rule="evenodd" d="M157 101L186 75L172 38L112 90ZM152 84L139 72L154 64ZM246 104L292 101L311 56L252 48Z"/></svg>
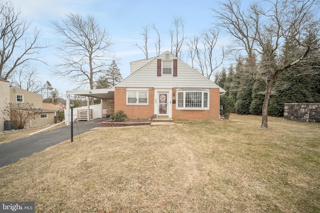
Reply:
<svg viewBox="0 0 320 213"><path fill-rule="evenodd" d="M0 201L45 213L320 212L320 124L104 128L0 169Z"/></svg>

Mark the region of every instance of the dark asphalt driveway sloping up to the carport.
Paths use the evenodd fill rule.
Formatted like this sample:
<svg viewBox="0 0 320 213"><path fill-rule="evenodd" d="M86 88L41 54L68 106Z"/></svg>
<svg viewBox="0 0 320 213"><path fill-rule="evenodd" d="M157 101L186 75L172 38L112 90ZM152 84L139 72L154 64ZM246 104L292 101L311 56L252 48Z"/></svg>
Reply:
<svg viewBox="0 0 320 213"><path fill-rule="evenodd" d="M73 138L90 129L100 126L100 122L107 118L97 118L73 124ZM43 133L38 133L8 143L0 144L0 168L13 164L22 158L41 152L46 148L69 140L71 138L70 126L60 127Z"/></svg>

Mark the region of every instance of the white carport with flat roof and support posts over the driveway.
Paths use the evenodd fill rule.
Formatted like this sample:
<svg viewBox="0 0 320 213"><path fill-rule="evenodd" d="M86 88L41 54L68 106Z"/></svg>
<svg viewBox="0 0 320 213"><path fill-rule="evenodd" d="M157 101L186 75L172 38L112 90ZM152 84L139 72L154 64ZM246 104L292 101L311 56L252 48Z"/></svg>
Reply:
<svg viewBox="0 0 320 213"><path fill-rule="evenodd" d="M71 95L78 95L78 96L85 96L85 97L93 97L93 98L100 98L102 99L113 99L114 100L114 87L109 89L90 89L90 90L71 90L66 91L66 112L68 112L67 120L65 121L66 125L70 124L70 96ZM87 120L89 121L89 98L87 100Z"/></svg>

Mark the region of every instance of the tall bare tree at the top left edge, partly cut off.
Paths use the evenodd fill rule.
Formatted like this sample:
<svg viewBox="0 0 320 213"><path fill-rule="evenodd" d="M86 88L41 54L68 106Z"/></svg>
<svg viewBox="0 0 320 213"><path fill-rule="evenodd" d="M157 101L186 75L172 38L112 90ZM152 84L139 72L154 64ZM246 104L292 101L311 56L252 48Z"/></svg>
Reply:
<svg viewBox="0 0 320 213"><path fill-rule="evenodd" d="M0 76L5 80L25 62L40 61L35 55L47 47L36 44L40 30L35 28L32 37L27 35L31 23L20 16L11 2L0 2Z"/></svg>

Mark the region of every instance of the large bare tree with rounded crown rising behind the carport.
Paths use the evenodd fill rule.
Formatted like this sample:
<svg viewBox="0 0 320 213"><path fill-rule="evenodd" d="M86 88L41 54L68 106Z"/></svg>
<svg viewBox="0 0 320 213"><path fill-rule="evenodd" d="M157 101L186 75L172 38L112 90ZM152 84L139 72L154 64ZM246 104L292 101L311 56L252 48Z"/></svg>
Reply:
<svg viewBox="0 0 320 213"><path fill-rule="evenodd" d="M59 70L54 73L67 77L77 84L77 88L89 84L93 89L96 78L106 73L107 65L113 59L109 34L98 26L92 15L84 18L78 13L70 13L61 22L52 23L61 39L57 48L62 59Z"/></svg>

